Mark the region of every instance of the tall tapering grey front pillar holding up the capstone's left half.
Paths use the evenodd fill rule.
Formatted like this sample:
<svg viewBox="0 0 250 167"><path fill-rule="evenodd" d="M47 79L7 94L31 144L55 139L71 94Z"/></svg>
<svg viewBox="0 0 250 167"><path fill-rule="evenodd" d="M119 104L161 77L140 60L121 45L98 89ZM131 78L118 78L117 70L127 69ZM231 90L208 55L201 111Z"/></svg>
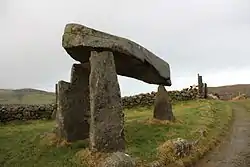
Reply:
<svg viewBox="0 0 250 167"><path fill-rule="evenodd" d="M124 114L113 53L91 52L90 66L90 148L124 151Z"/></svg>

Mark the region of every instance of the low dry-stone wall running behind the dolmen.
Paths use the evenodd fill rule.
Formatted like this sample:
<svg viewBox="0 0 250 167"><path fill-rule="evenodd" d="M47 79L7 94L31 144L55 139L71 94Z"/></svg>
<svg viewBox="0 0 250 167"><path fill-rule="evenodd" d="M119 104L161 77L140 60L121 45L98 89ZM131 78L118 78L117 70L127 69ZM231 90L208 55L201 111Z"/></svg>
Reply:
<svg viewBox="0 0 250 167"><path fill-rule="evenodd" d="M169 91L172 101L193 100L198 96L197 88L187 88L182 91ZM133 108L137 106L150 106L154 104L156 92L127 96L122 98L123 108ZM19 104L0 104L0 122L13 120L37 120L51 119L53 111L56 110L55 104L46 105L19 105Z"/></svg>

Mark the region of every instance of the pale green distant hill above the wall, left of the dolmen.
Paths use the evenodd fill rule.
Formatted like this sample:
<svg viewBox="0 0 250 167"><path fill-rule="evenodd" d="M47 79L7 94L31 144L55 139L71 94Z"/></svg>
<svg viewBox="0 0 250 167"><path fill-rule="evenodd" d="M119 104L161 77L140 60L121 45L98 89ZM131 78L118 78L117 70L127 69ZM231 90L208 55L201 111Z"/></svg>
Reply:
<svg viewBox="0 0 250 167"><path fill-rule="evenodd" d="M55 95L37 89L0 89L0 104L47 104L55 102Z"/></svg>

